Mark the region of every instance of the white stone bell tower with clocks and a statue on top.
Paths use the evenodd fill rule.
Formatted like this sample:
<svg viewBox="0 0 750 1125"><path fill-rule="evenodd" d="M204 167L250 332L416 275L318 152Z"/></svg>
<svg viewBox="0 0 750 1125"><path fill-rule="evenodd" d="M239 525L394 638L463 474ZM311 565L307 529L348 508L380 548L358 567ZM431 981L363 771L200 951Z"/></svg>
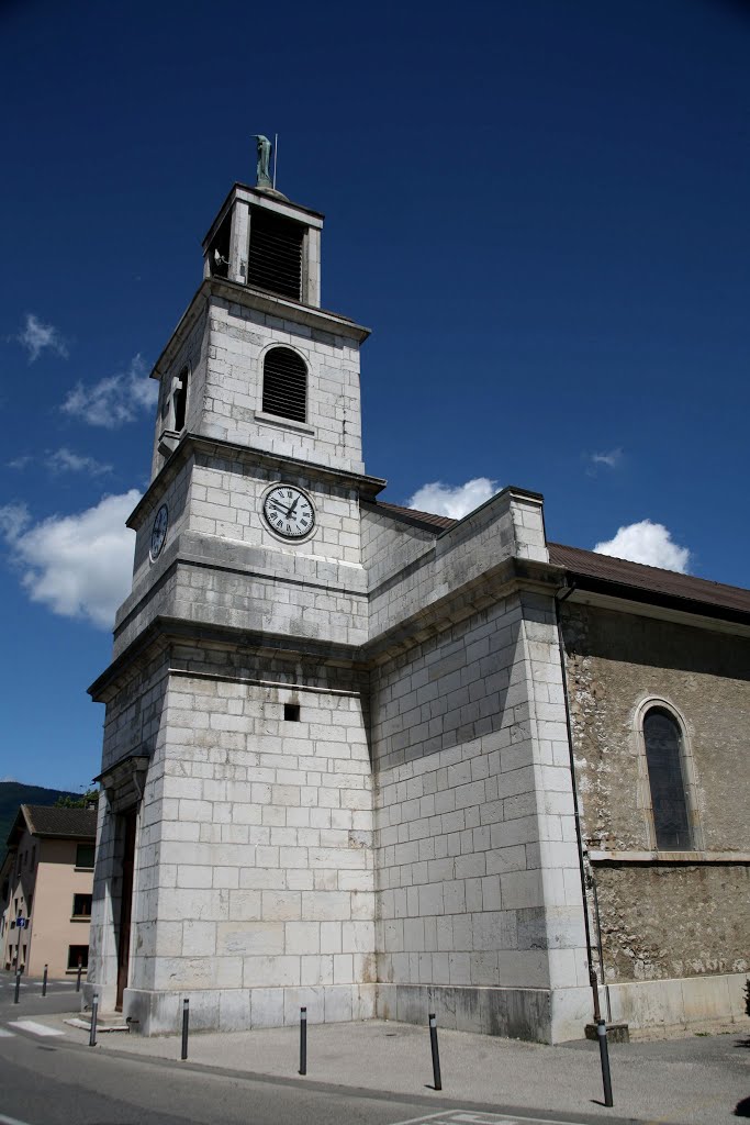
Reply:
<svg viewBox="0 0 750 1125"><path fill-rule="evenodd" d="M235 184L160 356L107 704L88 986L146 1034L373 1014L359 349L323 216ZM265 142L268 144L268 142ZM265 162L264 162L265 161Z"/></svg>

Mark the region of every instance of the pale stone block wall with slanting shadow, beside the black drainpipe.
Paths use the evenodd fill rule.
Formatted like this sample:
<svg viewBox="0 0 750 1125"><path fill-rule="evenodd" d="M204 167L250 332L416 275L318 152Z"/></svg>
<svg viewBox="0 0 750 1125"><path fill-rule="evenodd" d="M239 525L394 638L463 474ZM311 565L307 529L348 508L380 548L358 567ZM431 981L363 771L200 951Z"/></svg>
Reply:
<svg viewBox="0 0 750 1125"><path fill-rule="evenodd" d="M372 674L383 1012L416 1018L423 986L422 1007L428 991L443 1018L462 1012L454 1026L580 1034L587 963L553 621L549 598L513 595ZM507 992L486 1007L487 988ZM553 990L568 997L554 1010Z"/></svg>

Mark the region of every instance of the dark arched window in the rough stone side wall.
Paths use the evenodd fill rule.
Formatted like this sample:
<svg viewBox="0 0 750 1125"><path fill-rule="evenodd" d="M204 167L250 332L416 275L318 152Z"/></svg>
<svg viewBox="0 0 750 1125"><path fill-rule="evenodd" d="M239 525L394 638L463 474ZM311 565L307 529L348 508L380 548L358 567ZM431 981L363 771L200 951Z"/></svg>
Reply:
<svg viewBox="0 0 750 1125"><path fill-rule="evenodd" d="M658 706L647 711L643 741L657 848L689 852L693 838L683 775L683 736L669 711Z"/></svg>

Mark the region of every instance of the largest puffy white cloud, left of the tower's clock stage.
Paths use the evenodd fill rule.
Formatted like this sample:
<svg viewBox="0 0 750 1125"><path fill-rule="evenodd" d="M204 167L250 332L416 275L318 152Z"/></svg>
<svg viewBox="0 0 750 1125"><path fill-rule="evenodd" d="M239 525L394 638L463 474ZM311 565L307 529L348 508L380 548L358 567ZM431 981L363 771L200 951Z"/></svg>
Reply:
<svg viewBox="0 0 750 1125"><path fill-rule="evenodd" d="M60 616L110 629L130 588L135 537L125 520L139 500L132 488L84 512L36 524L24 504L0 508L0 532L31 601Z"/></svg>

